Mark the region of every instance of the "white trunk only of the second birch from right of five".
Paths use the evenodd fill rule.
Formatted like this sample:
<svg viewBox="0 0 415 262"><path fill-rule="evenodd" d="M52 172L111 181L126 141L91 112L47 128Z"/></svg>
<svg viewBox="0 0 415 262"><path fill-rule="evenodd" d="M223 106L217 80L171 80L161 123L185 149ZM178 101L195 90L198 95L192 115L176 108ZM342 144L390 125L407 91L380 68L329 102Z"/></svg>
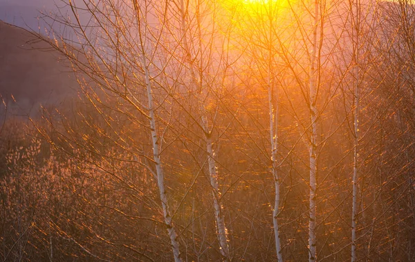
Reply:
<svg viewBox="0 0 415 262"><path fill-rule="evenodd" d="M317 204L316 204L316 191L317 191L317 107L316 103L316 87L315 81L317 78L316 60L317 60L317 27L318 27L318 0L314 2L314 28L313 28L313 43L311 49L311 65L310 65L310 119L311 119L311 137L310 137L310 211L308 218L308 260L317 260L317 247L316 247L316 217L317 217Z"/></svg>

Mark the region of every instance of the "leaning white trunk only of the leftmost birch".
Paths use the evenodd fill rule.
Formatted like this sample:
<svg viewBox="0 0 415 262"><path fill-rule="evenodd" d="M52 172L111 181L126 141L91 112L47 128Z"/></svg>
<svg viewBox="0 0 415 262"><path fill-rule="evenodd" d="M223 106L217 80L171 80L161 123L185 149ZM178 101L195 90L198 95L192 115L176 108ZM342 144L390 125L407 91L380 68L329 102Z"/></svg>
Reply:
<svg viewBox="0 0 415 262"><path fill-rule="evenodd" d="M149 100L148 107L149 107L151 141L153 143L154 163L156 164L158 191L160 192L160 200L161 200L161 205L163 207L163 216L165 219L165 225L167 227L167 232L170 237L170 242L172 243L174 261L181 262L182 260L180 258L180 250L179 250L178 242L177 242L177 234L172 225L172 216L170 215L169 204L167 203L167 193L165 191L165 184L164 184L164 173L163 173L163 169L161 166L160 151L158 148L159 140L158 140L158 134L156 132L156 117L154 116L153 95L151 91L149 69L147 67L147 60L145 58L144 51L142 52L142 64L143 64L144 72L145 72L145 85L147 87L147 96Z"/></svg>

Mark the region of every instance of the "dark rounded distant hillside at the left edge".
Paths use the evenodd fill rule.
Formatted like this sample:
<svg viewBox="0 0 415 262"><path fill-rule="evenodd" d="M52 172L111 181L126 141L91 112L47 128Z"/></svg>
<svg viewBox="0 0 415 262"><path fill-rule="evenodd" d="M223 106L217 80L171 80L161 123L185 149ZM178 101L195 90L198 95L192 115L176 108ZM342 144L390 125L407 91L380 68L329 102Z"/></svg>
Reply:
<svg viewBox="0 0 415 262"><path fill-rule="evenodd" d="M73 96L76 87L71 68L57 51L27 30L0 21L0 94L15 113L59 103Z"/></svg>

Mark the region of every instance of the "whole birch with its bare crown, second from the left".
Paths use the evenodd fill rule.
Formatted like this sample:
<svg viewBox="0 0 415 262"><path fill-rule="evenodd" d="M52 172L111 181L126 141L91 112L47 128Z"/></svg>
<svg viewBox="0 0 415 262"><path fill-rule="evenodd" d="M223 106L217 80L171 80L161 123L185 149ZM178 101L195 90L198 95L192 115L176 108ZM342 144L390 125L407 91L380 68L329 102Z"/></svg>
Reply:
<svg viewBox="0 0 415 262"><path fill-rule="evenodd" d="M208 119L208 110L206 103L212 103L208 100L208 95L219 91L225 72L215 72L212 67L228 67L228 54L223 50L223 42L218 35L219 26L216 25L214 17L216 1L190 1L181 0L176 5L181 15L180 32L181 45L185 53L183 62L187 64L190 71L190 93L194 94L194 100L200 112L200 119L196 120L205 139L205 150L208 162L208 173L210 177L210 186L212 191L214 218L216 225L217 238L219 241L219 250L225 261L230 261L230 250L228 245L228 230L225 227L225 216L223 214L222 195L219 188L218 166L216 165L216 153L212 141L212 132L214 132L214 121L211 123ZM208 15L211 15L209 17ZM210 21L210 19L212 19ZM226 36L225 36L226 37ZM216 47L219 44L219 47ZM193 53L194 52L194 53ZM216 76L215 76L216 74ZM223 74L223 75L222 75ZM222 75L222 76L221 76ZM219 82L214 79L219 77ZM222 79L222 80L221 80ZM209 82L213 80L212 82ZM218 84L219 86L214 86ZM217 108L216 108L217 110Z"/></svg>

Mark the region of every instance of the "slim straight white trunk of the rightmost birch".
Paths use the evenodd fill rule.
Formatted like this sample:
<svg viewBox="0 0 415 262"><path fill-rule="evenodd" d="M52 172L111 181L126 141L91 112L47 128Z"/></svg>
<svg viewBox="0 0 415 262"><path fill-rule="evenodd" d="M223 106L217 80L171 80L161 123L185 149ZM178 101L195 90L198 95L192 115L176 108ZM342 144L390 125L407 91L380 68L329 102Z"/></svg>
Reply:
<svg viewBox="0 0 415 262"><path fill-rule="evenodd" d="M352 37L353 37L353 59L354 59L354 152L353 152L353 203L351 209L351 261L356 261L356 219L358 215L358 157L359 157L359 2L356 0L356 12L353 14L352 7ZM354 33L354 35L353 35Z"/></svg>

